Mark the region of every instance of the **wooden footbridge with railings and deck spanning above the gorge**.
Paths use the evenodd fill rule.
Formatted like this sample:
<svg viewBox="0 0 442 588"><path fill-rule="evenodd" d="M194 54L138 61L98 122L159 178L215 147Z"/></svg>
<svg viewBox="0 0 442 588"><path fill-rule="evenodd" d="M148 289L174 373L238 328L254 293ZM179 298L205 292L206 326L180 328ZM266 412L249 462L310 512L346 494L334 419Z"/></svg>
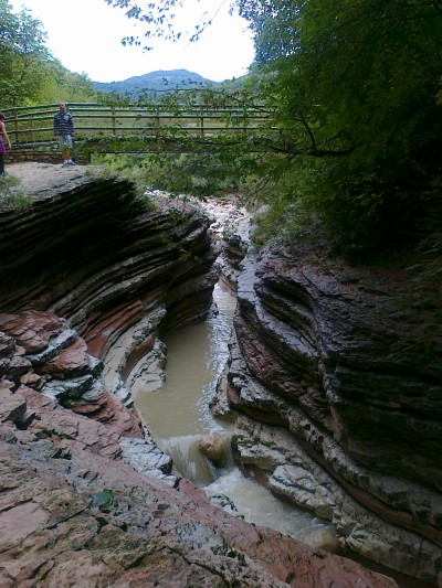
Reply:
<svg viewBox="0 0 442 588"><path fill-rule="evenodd" d="M259 105L75 103L69 109L75 122L75 148L86 157L93 152L207 151L211 147L238 143L244 137L252 143L278 140L271 113ZM53 149L56 111L55 104L3 110L13 146L40 151Z"/></svg>

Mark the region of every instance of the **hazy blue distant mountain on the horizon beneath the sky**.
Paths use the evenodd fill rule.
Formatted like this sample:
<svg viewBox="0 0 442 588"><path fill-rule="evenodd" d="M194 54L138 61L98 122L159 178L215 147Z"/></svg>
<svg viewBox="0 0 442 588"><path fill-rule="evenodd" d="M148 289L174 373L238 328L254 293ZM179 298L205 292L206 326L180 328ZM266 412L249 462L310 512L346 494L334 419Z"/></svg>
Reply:
<svg viewBox="0 0 442 588"><path fill-rule="evenodd" d="M143 93L167 93L182 88L215 86L218 84L218 82L212 82L211 79L207 79L206 77L193 72L188 72L187 70L160 70L159 72L129 77L122 82L93 82L94 88L97 92L115 92L133 98Z"/></svg>

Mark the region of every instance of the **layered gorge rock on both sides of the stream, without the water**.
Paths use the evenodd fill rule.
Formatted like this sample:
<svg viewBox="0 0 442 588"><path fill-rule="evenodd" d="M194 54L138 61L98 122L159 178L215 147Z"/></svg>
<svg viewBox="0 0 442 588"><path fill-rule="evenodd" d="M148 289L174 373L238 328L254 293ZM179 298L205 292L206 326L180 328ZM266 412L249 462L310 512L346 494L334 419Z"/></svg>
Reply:
<svg viewBox="0 0 442 588"><path fill-rule="evenodd" d="M147 210L81 167L10 171L32 205L0 213L0 584L396 586L210 504L134 409L126 378L158 331L209 311L201 211ZM436 585L441 364L391 351L420 319L398 314L402 279L251 252L213 409L235 419L240 460L333 521L347 554Z"/></svg>

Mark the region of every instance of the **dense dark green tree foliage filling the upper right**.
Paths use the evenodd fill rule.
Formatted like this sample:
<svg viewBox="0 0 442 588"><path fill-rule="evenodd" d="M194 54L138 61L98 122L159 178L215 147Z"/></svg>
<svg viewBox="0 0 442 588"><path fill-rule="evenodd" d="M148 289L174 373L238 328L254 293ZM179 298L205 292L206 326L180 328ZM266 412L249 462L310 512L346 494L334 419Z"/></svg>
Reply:
<svg viewBox="0 0 442 588"><path fill-rule="evenodd" d="M106 1L144 20L148 36L179 34L169 17L182 2ZM240 173L236 183L269 204L267 227L280 234L314 220L347 253L392 247L427 205L422 186L442 152L440 0L235 0L233 9L256 47L242 98L274 110L281 149L252 158L251 171L250 139L230 160L220 148L225 175Z"/></svg>

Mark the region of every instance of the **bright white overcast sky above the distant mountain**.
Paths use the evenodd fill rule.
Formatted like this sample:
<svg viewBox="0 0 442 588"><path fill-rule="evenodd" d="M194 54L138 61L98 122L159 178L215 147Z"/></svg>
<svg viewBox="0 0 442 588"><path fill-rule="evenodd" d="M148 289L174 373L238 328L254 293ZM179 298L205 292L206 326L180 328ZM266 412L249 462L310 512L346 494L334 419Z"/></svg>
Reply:
<svg viewBox="0 0 442 588"><path fill-rule="evenodd" d="M10 0L14 12L27 8L48 33L48 47L72 72L86 73L94 82L116 82L158 70L188 70L222 82L248 72L254 57L246 22L229 15L230 0L185 0L187 22L201 20L204 10L213 24L194 43L157 42L152 51L124 47L124 36L139 36L143 23L127 19L125 11L105 0ZM147 0L146 0L147 2ZM143 6L144 0L139 1ZM221 8L220 8L221 7Z"/></svg>

